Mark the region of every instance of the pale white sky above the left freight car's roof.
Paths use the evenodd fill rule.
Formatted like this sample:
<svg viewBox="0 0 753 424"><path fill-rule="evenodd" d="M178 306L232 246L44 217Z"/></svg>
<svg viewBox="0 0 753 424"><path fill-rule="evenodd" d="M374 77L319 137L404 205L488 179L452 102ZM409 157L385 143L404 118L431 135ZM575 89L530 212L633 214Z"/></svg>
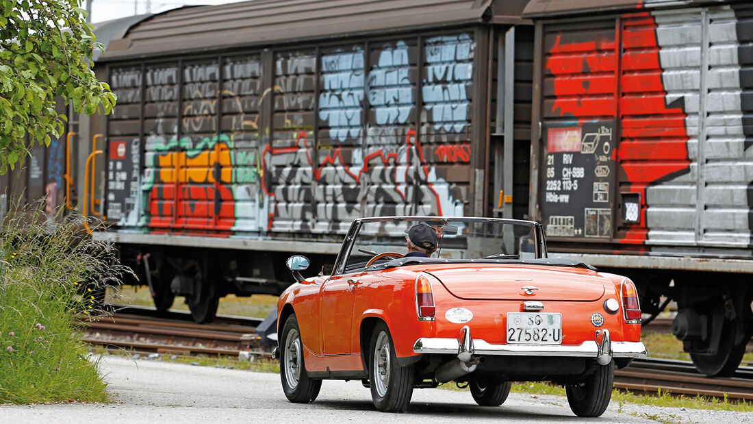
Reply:
<svg viewBox="0 0 753 424"><path fill-rule="evenodd" d="M187 5L221 5L241 0L84 0L81 8L86 9L87 1L92 2L91 21L97 23L134 14L145 14L148 7L151 7L151 13L159 13Z"/></svg>

